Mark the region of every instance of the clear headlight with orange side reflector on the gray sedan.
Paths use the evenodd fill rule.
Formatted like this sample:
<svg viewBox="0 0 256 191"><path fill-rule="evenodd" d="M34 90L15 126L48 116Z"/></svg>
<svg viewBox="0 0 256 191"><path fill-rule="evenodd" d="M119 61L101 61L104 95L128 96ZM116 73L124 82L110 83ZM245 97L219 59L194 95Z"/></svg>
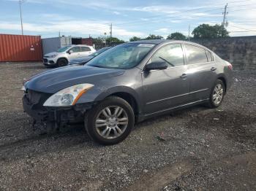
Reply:
<svg viewBox="0 0 256 191"><path fill-rule="evenodd" d="M75 105L78 99L80 98L80 96L82 96L83 93L86 93L86 91L93 86L94 85L91 85L91 84L80 84L80 85L73 85L71 87L67 87L51 95L50 98L48 98L48 100L45 101L45 104L43 104L43 106Z"/></svg>

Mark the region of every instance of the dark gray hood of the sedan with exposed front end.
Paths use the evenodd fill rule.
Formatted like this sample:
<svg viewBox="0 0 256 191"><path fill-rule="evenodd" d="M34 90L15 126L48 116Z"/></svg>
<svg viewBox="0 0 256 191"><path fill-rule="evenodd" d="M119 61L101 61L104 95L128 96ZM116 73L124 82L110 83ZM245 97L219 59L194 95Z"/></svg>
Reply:
<svg viewBox="0 0 256 191"><path fill-rule="evenodd" d="M25 88L44 93L56 93L72 85L82 83L95 85L95 83L99 82L101 79L108 79L121 74L124 74L123 69L67 66L37 74L26 82Z"/></svg>

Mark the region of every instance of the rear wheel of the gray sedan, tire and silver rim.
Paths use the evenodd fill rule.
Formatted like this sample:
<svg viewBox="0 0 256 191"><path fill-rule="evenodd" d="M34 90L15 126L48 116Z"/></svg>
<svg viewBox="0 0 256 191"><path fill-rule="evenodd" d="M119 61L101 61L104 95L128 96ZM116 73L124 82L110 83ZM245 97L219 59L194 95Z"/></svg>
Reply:
<svg viewBox="0 0 256 191"><path fill-rule="evenodd" d="M220 87L220 89L219 89ZM222 104L225 95L225 84L222 80L217 79L214 83L214 87L211 89L211 95L208 101L208 106L210 108L217 108Z"/></svg>

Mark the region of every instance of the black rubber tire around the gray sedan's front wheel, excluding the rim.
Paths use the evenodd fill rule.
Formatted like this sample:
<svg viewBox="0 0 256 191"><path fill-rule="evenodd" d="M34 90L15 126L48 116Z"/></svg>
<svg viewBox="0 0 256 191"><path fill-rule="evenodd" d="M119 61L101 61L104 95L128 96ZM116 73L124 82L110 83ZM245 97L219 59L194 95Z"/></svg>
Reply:
<svg viewBox="0 0 256 191"><path fill-rule="evenodd" d="M100 111L102 111L102 109L104 109L107 106L121 106L121 108L124 109L128 115L127 128L124 131L124 133L121 134L121 136L118 136L116 139L103 138L102 136L99 135L99 133L95 128L95 121L96 121L97 115L99 114ZM105 144L105 145L117 144L123 141L124 139L126 139L127 136L129 136L129 133L131 132L134 126L134 123L135 123L135 116L134 116L132 107L128 104L127 101L118 97L106 98L105 100L103 100L102 102L94 106L94 108L92 108L85 116L85 127L89 137L92 140L98 142L99 144Z"/></svg>

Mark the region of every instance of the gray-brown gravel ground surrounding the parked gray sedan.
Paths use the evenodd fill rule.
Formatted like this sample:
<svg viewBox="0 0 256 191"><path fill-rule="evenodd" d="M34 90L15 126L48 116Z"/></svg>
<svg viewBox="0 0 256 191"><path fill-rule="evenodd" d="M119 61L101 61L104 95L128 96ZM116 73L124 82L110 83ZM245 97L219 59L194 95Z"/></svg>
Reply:
<svg viewBox="0 0 256 191"><path fill-rule="evenodd" d="M120 144L83 126L39 135L23 113L23 78L42 63L0 63L0 190L256 190L256 71L236 71L218 109L140 122Z"/></svg>

